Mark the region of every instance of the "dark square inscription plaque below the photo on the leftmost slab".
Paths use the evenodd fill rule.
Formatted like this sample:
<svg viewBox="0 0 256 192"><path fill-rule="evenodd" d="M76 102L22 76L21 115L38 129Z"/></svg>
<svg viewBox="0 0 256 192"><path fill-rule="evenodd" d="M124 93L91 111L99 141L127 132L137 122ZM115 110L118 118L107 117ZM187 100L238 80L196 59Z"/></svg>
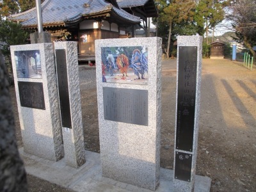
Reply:
<svg viewBox="0 0 256 192"><path fill-rule="evenodd" d="M45 110L43 83L18 81L18 87L20 106Z"/></svg>

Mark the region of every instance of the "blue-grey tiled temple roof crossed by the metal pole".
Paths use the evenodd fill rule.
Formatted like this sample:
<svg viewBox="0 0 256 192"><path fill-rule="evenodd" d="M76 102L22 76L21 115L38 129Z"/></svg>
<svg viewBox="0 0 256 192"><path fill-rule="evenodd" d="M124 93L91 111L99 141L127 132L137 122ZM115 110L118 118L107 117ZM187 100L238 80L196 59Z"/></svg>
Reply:
<svg viewBox="0 0 256 192"><path fill-rule="evenodd" d="M135 17L122 9L116 8L104 0L45 0L42 3L43 25L64 24L81 19L83 16L97 15L99 13L115 12L123 19L131 22L140 22L139 17ZM22 20L22 26L36 26L35 8L23 13L11 15L11 20Z"/></svg>

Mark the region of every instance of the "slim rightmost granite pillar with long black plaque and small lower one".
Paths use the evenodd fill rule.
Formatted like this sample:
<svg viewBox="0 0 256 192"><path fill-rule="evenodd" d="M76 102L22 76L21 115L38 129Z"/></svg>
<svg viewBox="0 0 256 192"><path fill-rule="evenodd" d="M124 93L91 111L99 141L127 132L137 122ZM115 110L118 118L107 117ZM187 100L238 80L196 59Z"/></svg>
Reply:
<svg viewBox="0 0 256 192"><path fill-rule="evenodd" d="M178 36L173 191L193 191L195 183L202 36Z"/></svg>

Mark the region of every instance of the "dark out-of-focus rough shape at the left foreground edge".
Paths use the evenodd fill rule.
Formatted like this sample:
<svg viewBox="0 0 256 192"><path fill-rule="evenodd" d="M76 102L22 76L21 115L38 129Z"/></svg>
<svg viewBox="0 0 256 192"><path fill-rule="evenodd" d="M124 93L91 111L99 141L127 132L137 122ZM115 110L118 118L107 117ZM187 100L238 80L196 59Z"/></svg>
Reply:
<svg viewBox="0 0 256 192"><path fill-rule="evenodd" d="M28 191L26 170L15 139L8 75L0 51L0 191Z"/></svg>

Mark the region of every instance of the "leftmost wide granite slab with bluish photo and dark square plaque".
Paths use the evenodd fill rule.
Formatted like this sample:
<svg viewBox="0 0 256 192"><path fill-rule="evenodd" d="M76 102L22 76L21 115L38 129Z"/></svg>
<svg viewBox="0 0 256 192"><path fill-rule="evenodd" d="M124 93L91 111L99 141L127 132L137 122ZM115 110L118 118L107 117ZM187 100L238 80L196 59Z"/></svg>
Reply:
<svg viewBox="0 0 256 192"><path fill-rule="evenodd" d="M24 152L63 157L58 89L52 44L11 46Z"/></svg>

